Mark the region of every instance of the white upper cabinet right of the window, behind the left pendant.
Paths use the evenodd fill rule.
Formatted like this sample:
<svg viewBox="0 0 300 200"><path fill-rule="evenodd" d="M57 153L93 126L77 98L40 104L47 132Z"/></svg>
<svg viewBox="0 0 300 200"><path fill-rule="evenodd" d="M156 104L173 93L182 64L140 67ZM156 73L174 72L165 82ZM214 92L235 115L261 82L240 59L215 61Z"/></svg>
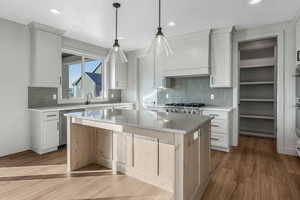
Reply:
<svg viewBox="0 0 300 200"><path fill-rule="evenodd" d="M124 90L127 88L127 63L120 61L109 65L110 89Z"/></svg>

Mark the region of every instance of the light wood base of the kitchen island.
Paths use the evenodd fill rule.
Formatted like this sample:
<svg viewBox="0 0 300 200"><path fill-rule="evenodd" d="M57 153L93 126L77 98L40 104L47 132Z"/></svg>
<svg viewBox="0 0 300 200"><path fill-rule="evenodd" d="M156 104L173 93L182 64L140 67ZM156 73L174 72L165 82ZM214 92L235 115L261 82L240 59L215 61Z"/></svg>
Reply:
<svg viewBox="0 0 300 200"><path fill-rule="evenodd" d="M90 164L112 168L173 193L199 200L210 179L210 121L171 134L68 117L67 173Z"/></svg>

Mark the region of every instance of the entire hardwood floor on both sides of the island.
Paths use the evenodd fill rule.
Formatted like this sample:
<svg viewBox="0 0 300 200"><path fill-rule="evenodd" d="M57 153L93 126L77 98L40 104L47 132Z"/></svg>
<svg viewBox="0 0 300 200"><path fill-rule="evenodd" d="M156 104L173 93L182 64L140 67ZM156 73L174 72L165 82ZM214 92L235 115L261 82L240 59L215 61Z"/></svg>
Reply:
<svg viewBox="0 0 300 200"><path fill-rule="evenodd" d="M212 152L212 167L204 200L300 199L300 159L275 153L272 139L240 137L231 153ZM90 166L72 177L65 170L65 149L0 158L0 199L170 199L168 192L104 168Z"/></svg>

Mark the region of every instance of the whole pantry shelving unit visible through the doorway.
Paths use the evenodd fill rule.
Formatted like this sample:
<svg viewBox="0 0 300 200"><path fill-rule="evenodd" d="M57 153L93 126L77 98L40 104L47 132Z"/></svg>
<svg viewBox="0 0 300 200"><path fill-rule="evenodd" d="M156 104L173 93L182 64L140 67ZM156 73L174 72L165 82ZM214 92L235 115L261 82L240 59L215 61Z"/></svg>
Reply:
<svg viewBox="0 0 300 200"><path fill-rule="evenodd" d="M243 42L240 51L240 134L276 137L276 39Z"/></svg>

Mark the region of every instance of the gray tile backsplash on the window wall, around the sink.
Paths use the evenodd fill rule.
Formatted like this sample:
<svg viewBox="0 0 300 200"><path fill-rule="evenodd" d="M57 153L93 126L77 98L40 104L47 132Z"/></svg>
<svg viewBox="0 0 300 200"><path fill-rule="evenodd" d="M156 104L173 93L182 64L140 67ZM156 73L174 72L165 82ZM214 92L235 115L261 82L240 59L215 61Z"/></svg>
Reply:
<svg viewBox="0 0 300 200"><path fill-rule="evenodd" d="M109 100L103 103L121 102L120 90L109 90L108 93L109 93L108 94ZM55 94L58 97L57 88L28 87L28 108L63 106L64 104L58 104L57 100L53 100L53 95ZM79 105L79 104L74 104L74 105Z"/></svg>

